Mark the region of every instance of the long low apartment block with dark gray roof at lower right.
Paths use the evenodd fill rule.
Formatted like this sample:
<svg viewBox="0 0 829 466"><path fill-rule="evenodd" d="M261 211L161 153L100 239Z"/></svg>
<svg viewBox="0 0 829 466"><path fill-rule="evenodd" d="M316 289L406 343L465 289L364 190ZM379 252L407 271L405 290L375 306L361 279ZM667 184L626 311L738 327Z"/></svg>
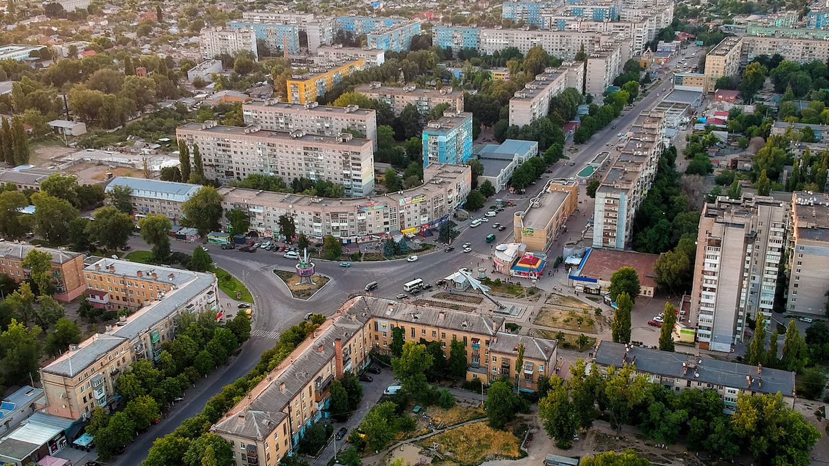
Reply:
<svg viewBox="0 0 829 466"><path fill-rule="evenodd" d="M631 364L649 382L674 393L686 388L714 390L729 414L736 412L740 393L780 393L789 407L794 405L794 372L607 341L599 342L595 354L594 362L604 375L609 366L621 368Z"/></svg>

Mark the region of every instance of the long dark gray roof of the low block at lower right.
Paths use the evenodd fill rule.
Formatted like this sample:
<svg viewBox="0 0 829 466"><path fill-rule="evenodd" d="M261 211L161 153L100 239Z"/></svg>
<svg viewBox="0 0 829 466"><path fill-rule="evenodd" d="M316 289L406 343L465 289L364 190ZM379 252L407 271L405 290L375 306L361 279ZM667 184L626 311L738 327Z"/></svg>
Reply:
<svg viewBox="0 0 829 466"><path fill-rule="evenodd" d="M727 386L744 390L748 388L746 376L754 379L752 391L762 393L777 393L783 396L794 396L794 372L778 369L763 368L762 374L757 373L756 366L740 364L739 362L720 361L710 357L692 357L691 361L701 361L694 371L682 374L683 363L689 362L689 355L678 352L659 351L642 347L631 347L625 351L625 345L614 342L600 342L596 349L595 362L603 366L622 366L624 357L627 361L634 361L639 372L656 374L658 376L673 377L676 379L696 380L712 385ZM757 379L762 380L758 386Z"/></svg>

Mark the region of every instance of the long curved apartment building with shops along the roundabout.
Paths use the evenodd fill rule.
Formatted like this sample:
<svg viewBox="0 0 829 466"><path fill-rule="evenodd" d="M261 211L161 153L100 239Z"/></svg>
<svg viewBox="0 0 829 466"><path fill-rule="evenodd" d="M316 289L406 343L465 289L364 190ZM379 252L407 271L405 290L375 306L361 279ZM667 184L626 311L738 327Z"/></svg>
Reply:
<svg viewBox="0 0 829 466"><path fill-rule="evenodd" d="M417 234L447 221L466 200L472 187L468 166L433 163L424 168L424 184L373 197L327 199L282 192L221 187L225 211L241 209L250 217L250 230L279 234L279 216L293 217L297 233L322 240L332 235L344 243L371 235ZM223 218L225 228L229 226Z"/></svg>

